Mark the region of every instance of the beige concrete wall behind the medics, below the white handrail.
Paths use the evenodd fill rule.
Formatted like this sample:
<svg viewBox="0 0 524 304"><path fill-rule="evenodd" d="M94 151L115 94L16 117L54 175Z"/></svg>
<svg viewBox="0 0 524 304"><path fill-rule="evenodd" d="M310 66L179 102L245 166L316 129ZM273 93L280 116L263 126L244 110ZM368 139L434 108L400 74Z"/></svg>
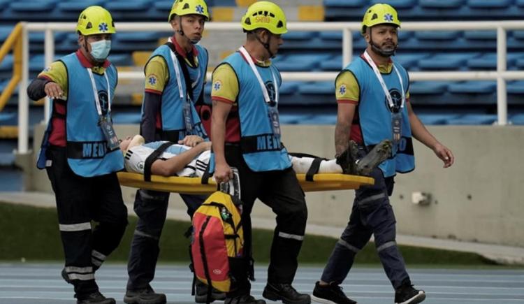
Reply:
<svg viewBox="0 0 524 304"><path fill-rule="evenodd" d="M415 145L416 170L396 178L391 203L398 233L435 238L478 241L524 247L524 126L430 126L430 131L453 150L456 164L442 168L442 161L420 143ZM120 136L138 132L136 125L119 125ZM283 126L290 152L333 157L334 126ZM43 126L35 128L40 143ZM38 148L35 148L37 151ZM29 162L34 161L34 156ZM34 162L33 162L34 164ZM51 191L45 171L26 166L27 189ZM132 203L134 190L123 187L124 201ZM412 203L412 193L431 194L428 205ZM170 208L180 214L184 205L171 196ZM344 227L349 218L353 191L307 194L309 223ZM273 219L270 208L258 202L254 216Z"/></svg>

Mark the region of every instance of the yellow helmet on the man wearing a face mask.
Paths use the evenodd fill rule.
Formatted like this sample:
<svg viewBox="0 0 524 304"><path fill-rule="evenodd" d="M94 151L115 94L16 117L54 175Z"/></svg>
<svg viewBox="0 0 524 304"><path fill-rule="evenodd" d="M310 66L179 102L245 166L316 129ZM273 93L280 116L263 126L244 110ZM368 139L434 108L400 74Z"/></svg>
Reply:
<svg viewBox="0 0 524 304"><path fill-rule="evenodd" d="M78 17L76 31L84 36L115 34L115 22L111 14L101 6L89 6Z"/></svg>

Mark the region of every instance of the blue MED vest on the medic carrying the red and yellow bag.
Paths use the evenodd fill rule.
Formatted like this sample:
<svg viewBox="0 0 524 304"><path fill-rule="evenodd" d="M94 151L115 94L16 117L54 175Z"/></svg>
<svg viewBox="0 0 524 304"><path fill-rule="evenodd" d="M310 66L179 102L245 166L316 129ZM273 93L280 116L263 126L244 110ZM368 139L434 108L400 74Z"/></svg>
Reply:
<svg viewBox="0 0 524 304"><path fill-rule="evenodd" d="M265 102L259 81L240 52L226 59L238 78L238 116L240 118L240 148L246 164L253 171L284 170L291 167L286 148L280 136L273 133L270 122L270 107ZM272 101L276 100L275 85L280 87L280 73L271 65L256 66ZM278 83L273 83L272 73ZM276 106L274 107L275 111Z"/></svg>

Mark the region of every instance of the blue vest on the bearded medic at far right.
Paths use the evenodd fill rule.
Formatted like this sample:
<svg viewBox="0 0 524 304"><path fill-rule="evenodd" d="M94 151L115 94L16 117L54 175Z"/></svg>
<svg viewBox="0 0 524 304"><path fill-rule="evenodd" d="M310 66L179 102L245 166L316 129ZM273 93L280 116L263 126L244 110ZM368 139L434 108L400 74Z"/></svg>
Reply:
<svg viewBox="0 0 524 304"><path fill-rule="evenodd" d="M405 68L395 64L402 77L405 94L408 91L409 77ZM362 136L365 145L376 145L381 140L393 140L391 126L392 112L388 100L384 95L377 75L367 62L358 57L344 70L351 71L358 82L360 100L358 101L358 117L361 124ZM382 78L391 94L395 106L400 106L402 101L401 86L397 73L382 73ZM402 108L402 138L399 145L393 147L393 157L384 161L379 167L384 172L384 177L398 173L407 173L415 168L412 131L407 115L407 105Z"/></svg>

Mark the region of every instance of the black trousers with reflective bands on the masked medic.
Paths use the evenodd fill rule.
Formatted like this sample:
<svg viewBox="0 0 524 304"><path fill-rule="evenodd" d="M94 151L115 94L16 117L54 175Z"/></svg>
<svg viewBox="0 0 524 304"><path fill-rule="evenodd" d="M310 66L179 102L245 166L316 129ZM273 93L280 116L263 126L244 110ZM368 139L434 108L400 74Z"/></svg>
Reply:
<svg viewBox="0 0 524 304"><path fill-rule="evenodd" d="M127 225L127 208L116 173L84 178L68 166L66 150L50 147L46 168L57 201L68 279L75 297L98 290L94 270L117 248ZM92 228L92 221L98 224Z"/></svg>

